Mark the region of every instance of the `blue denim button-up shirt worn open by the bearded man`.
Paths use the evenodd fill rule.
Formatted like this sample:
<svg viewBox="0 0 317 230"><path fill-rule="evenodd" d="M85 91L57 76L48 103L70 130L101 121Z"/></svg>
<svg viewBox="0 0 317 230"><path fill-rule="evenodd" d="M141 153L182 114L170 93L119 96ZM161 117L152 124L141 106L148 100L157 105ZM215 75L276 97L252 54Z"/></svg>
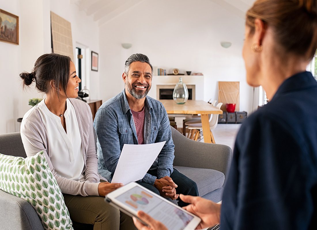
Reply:
<svg viewBox="0 0 317 230"><path fill-rule="evenodd" d="M145 106L144 144L166 141L150 168L157 169L158 177L146 173L141 180L153 185L156 178L170 176L173 172L174 144L170 122L163 104L146 96ZM94 128L97 133L98 171L111 182L123 145L138 144L125 90L101 105L94 119Z"/></svg>

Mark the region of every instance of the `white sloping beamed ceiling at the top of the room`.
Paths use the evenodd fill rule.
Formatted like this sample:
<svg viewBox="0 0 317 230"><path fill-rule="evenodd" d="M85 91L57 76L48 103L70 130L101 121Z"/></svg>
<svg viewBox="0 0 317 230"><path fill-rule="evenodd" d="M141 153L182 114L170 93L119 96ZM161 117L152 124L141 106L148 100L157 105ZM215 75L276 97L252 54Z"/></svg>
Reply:
<svg viewBox="0 0 317 230"><path fill-rule="evenodd" d="M94 21L102 24L110 21L131 7L145 0L71 0L80 10L92 16ZM244 18L245 12L251 7L255 0L209 0L214 2L230 13Z"/></svg>

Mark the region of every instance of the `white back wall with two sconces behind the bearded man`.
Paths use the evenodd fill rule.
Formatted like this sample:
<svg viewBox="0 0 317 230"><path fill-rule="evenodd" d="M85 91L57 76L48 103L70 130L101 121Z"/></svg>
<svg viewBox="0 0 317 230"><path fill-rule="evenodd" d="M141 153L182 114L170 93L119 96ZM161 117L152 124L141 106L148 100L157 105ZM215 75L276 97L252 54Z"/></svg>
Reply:
<svg viewBox="0 0 317 230"><path fill-rule="evenodd" d="M241 54L244 23L210 0L141 2L100 26L100 99L124 88L125 60L143 53L158 68L202 72L206 101L217 99L218 81L240 81L240 110L251 111L253 88L246 83ZM221 41L232 46L225 49ZM126 50L121 43L133 45Z"/></svg>

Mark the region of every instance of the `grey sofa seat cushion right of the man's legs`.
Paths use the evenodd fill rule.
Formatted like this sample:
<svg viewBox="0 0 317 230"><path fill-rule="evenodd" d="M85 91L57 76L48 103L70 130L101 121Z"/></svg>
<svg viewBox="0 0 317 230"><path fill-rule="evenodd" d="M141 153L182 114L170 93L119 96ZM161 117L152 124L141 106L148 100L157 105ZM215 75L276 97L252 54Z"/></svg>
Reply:
<svg viewBox="0 0 317 230"><path fill-rule="evenodd" d="M196 182L199 196L204 196L223 186L224 174L217 170L184 166L174 166L174 168Z"/></svg>

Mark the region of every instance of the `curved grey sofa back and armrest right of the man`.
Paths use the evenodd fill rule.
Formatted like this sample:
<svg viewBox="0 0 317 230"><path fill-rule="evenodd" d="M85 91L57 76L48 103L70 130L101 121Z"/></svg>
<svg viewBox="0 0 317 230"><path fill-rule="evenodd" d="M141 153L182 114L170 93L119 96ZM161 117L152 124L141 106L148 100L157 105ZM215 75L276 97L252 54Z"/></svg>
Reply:
<svg viewBox="0 0 317 230"><path fill-rule="evenodd" d="M229 146L198 142L185 137L171 127L175 145L174 165L192 168L214 169L228 175L232 150Z"/></svg>

